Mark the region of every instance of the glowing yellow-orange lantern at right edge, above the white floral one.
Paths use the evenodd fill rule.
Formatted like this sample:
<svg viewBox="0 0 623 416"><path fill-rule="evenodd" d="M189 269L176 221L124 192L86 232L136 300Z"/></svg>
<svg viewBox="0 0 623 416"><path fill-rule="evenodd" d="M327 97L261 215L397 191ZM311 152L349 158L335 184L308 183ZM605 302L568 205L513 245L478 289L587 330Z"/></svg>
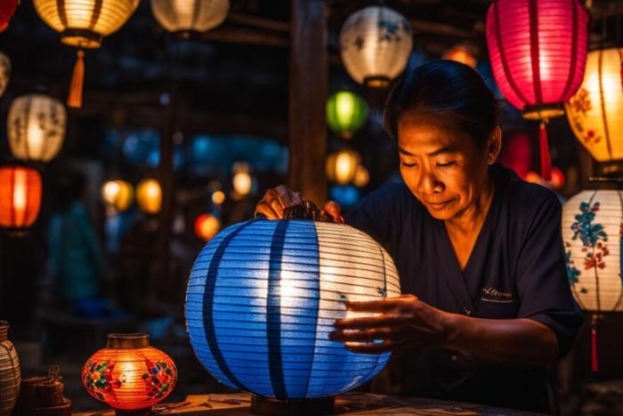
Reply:
<svg viewBox="0 0 623 416"><path fill-rule="evenodd" d="M571 130L598 161L623 159L623 49L588 53L578 93L565 106Z"/></svg>

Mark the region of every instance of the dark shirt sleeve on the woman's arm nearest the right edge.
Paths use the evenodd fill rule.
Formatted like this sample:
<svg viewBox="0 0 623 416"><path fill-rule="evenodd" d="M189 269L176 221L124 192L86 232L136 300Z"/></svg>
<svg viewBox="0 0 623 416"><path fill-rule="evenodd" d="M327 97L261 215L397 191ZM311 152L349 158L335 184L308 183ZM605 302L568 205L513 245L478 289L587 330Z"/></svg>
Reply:
<svg viewBox="0 0 623 416"><path fill-rule="evenodd" d="M554 330L558 351L567 355L582 323L571 295L564 262L561 204L548 194L532 216L517 262L520 318L543 323Z"/></svg>

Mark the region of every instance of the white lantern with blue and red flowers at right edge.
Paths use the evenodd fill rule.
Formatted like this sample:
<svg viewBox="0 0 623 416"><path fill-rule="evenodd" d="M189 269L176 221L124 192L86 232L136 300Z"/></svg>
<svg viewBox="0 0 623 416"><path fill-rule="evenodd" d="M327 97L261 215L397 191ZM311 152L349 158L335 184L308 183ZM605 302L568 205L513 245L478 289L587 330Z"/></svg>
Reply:
<svg viewBox="0 0 623 416"><path fill-rule="evenodd" d="M583 191L562 207L567 274L582 309L623 311L621 224L621 191Z"/></svg>

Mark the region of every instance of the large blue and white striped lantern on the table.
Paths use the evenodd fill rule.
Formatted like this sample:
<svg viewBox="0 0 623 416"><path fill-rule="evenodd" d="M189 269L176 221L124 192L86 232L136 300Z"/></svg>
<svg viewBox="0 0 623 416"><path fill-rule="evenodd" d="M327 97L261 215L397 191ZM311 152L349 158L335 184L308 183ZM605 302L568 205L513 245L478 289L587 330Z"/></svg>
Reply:
<svg viewBox="0 0 623 416"><path fill-rule="evenodd" d="M336 319L365 316L344 300L400 295L392 258L344 224L256 219L201 251L190 273L190 344L223 384L257 396L334 396L372 379L389 354L328 339Z"/></svg>

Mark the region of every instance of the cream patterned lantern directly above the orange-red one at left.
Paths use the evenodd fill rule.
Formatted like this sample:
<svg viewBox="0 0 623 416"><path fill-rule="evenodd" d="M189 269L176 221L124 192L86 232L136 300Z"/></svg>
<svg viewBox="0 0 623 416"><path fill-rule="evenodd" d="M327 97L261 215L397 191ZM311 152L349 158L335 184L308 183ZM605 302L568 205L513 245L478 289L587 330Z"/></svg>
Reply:
<svg viewBox="0 0 623 416"><path fill-rule="evenodd" d="M15 158L47 162L61 150L67 113L58 100L44 94L22 95L11 102L6 126Z"/></svg>

